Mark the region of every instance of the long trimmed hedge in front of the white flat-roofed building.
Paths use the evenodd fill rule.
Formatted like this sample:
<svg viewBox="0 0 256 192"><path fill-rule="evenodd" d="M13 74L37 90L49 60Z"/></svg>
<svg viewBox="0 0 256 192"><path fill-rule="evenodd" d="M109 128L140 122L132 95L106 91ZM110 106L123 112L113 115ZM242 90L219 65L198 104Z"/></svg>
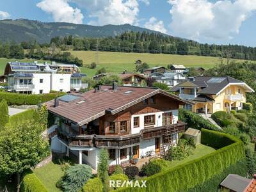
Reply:
<svg viewBox="0 0 256 192"><path fill-rule="evenodd" d="M5 99L8 105L37 105L42 102L47 102L49 100L55 99L56 97L61 97L66 93L45 93L40 95L35 94L20 94L20 93L8 93L0 92L0 102Z"/></svg>

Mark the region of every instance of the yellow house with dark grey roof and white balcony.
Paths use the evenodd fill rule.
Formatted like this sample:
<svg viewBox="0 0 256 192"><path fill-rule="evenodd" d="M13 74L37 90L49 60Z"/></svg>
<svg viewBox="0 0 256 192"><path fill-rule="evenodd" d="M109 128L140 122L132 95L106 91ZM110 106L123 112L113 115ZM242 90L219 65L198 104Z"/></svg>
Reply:
<svg viewBox="0 0 256 192"><path fill-rule="evenodd" d="M246 83L232 77L204 76L189 77L188 81L177 84L171 91L195 102L194 106L188 104L185 108L196 113L242 109L246 92L254 92Z"/></svg>

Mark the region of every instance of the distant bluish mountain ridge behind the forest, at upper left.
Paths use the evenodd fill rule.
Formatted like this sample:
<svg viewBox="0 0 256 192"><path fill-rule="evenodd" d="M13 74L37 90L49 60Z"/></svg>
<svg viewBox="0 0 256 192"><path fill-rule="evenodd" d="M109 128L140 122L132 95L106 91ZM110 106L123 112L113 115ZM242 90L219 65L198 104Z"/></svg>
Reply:
<svg viewBox="0 0 256 192"><path fill-rule="evenodd" d="M90 26L88 24L72 24L68 22L42 22L29 19L4 19L0 20L0 42L36 40L39 43L49 43L54 36L78 36L78 37L106 37L116 36L125 31L159 33L146 28L132 26L130 24L105 26Z"/></svg>

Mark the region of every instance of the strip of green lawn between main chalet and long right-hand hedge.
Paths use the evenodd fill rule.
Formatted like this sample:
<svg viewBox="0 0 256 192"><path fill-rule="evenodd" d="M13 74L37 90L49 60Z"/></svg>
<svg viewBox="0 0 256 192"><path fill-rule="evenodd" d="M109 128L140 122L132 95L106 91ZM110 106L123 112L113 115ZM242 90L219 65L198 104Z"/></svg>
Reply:
<svg viewBox="0 0 256 192"><path fill-rule="evenodd" d="M165 160L163 160L164 164L161 164L161 165L162 165L163 169L173 168L173 167L178 166L180 164L188 163L191 160L198 159L198 158L200 158L202 156L205 156L207 154L210 154L211 152L214 152L214 151L215 151L215 149L212 148L212 147L208 147L206 145L199 144L199 145L196 145L194 154L192 156L188 156L185 159L180 160L180 161L178 161L178 160L176 160L176 161L165 161ZM159 160L157 160L157 161L159 161Z"/></svg>

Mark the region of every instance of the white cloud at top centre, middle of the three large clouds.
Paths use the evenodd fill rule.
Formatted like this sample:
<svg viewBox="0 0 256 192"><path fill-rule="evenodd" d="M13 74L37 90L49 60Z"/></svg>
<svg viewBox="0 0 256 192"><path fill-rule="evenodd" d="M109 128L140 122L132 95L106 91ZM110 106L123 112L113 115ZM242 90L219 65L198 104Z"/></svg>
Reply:
<svg viewBox="0 0 256 192"><path fill-rule="evenodd" d="M138 25L139 4L137 0L72 0L72 2L88 10L90 17L95 18L89 24Z"/></svg>

